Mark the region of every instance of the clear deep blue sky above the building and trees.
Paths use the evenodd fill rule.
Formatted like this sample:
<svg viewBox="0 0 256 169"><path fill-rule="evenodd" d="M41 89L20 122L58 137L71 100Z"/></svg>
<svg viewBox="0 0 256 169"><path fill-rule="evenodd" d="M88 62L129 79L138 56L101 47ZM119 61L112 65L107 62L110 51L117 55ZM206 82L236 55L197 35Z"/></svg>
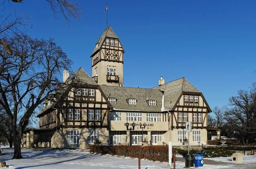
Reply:
<svg viewBox="0 0 256 169"><path fill-rule="evenodd" d="M57 20L46 1L6 4L9 14L31 17L28 34L52 37L92 75L90 54L108 23L125 49L124 85L151 88L185 77L211 108L228 104L230 96L256 82L256 2L239 0L76 0L83 9L70 28ZM12 14L13 16L13 14Z"/></svg>

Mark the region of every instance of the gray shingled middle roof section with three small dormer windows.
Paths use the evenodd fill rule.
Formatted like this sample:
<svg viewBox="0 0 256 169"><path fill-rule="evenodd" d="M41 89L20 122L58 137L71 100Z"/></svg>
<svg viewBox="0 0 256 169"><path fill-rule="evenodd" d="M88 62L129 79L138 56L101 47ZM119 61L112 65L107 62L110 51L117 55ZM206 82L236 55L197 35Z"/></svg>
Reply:
<svg viewBox="0 0 256 169"><path fill-rule="evenodd" d="M111 103L112 107L117 110L140 110L160 112L162 108L163 93L157 89L145 89L137 87L119 87L119 86L106 86L100 85L100 88L106 96L116 97L116 103ZM137 99L137 104L128 104L130 98ZM149 106L147 98L154 96L157 105Z"/></svg>

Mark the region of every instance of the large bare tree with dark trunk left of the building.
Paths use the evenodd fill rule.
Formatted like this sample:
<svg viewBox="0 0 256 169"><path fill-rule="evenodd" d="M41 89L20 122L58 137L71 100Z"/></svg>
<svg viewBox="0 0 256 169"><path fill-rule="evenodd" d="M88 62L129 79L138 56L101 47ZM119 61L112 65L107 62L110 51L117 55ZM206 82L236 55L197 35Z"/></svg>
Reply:
<svg viewBox="0 0 256 169"><path fill-rule="evenodd" d="M53 39L21 34L4 41L12 54L0 45L0 105L12 124L13 158L22 158L20 143L29 118L38 105L57 92L61 71L70 70L72 61Z"/></svg>

